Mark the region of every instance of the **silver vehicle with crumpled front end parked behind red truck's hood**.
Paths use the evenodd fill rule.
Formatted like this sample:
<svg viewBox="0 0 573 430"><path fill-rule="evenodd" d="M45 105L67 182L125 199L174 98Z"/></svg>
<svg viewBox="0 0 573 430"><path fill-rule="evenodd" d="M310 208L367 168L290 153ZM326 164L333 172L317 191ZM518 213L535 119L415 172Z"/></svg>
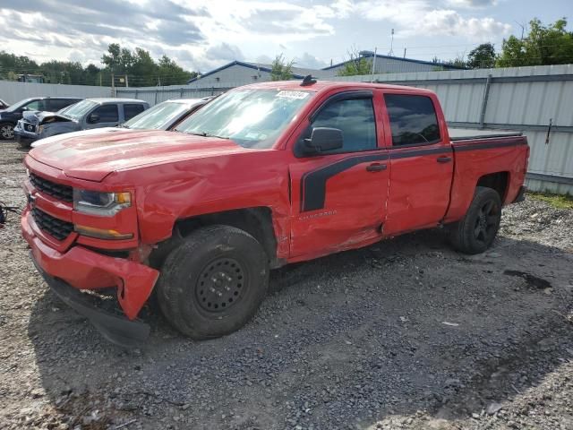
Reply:
<svg viewBox="0 0 573 430"><path fill-rule="evenodd" d="M22 148L28 148L48 136L115 127L149 107L147 101L138 99L85 99L56 113L28 113L14 127L14 135Z"/></svg>

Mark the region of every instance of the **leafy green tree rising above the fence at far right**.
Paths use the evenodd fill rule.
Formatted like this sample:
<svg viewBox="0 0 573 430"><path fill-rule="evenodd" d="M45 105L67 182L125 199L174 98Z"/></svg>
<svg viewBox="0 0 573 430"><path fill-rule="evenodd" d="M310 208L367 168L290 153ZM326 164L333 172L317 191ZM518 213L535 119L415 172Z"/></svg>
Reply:
<svg viewBox="0 0 573 430"><path fill-rule="evenodd" d="M498 67L523 65L570 64L573 62L573 32L567 30L562 18L549 26L534 18L529 22L529 34L524 39L510 36L503 40Z"/></svg>

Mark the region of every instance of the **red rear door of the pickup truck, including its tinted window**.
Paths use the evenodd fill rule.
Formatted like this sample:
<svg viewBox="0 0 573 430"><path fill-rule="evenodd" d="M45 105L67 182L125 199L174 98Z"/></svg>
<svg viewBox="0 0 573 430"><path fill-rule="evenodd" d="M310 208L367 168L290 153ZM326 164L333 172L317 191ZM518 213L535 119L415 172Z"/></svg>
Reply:
<svg viewBox="0 0 573 430"><path fill-rule="evenodd" d="M391 131L384 234L436 226L448 209L454 165L437 99L385 90L384 101L384 122Z"/></svg>

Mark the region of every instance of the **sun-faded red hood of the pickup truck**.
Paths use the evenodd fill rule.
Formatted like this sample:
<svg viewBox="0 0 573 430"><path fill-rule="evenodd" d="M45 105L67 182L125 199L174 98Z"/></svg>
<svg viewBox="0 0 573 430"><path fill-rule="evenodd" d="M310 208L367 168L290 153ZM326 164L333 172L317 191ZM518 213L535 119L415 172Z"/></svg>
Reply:
<svg viewBox="0 0 573 430"><path fill-rule="evenodd" d="M30 150L32 159L66 176L101 182L107 175L150 164L246 151L227 139L164 131L130 131L67 137Z"/></svg>

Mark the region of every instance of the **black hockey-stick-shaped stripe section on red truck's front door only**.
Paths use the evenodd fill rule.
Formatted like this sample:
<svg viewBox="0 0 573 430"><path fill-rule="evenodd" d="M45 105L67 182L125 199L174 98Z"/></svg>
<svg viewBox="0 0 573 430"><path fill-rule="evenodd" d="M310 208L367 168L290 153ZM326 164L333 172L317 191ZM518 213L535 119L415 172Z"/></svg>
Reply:
<svg viewBox="0 0 573 430"><path fill-rule="evenodd" d="M316 170L306 172L301 177L301 211L316 211L324 207L326 196L326 181L330 177L338 175L349 168L354 168L357 164L368 161L383 161L388 159L388 154L370 154L358 157L349 157L338 160Z"/></svg>

